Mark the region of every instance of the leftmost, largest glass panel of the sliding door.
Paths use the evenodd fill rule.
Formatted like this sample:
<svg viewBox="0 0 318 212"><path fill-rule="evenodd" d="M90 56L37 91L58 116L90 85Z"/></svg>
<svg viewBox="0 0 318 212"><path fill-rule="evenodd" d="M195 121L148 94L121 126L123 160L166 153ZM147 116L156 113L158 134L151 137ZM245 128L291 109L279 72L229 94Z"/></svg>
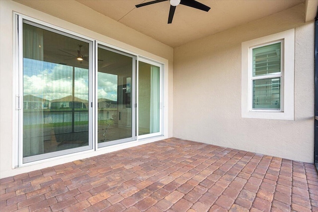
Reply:
<svg viewBox="0 0 318 212"><path fill-rule="evenodd" d="M92 43L23 22L23 162L92 148Z"/></svg>

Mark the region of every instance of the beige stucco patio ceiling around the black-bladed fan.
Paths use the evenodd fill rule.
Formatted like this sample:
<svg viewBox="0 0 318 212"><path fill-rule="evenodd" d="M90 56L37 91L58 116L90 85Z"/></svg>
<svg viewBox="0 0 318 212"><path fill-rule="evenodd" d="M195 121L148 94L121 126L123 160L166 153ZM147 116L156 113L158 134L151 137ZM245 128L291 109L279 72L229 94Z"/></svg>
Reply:
<svg viewBox="0 0 318 212"><path fill-rule="evenodd" d="M27 6L58 14L62 0L15 0ZM64 2L72 2L64 0ZM73 0L70 13L81 5L148 35L170 47L181 46L241 24L304 3L304 22L313 20L318 0L197 0L211 7L208 12L179 4L173 21L167 24L170 3L168 0L136 8L136 4L151 0ZM44 6L44 2L50 2ZM43 6L42 6L42 5ZM57 4L60 4L57 6ZM48 6L49 5L49 6ZM87 9L89 9L87 8ZM54 12L55 10L55 12ZM73 10L73 11L71 11ZM59 14L64 16L65 14ZM89 19L85 14L79 18ZM261 26L260 26L261 27Z"/></svg>

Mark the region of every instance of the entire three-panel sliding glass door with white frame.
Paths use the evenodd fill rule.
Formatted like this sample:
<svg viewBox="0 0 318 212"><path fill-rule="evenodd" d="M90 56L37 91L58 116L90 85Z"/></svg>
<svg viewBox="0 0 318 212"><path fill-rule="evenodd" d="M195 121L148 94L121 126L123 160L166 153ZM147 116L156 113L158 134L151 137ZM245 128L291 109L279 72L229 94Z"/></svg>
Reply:
<svg viewBox="0 0 318 212"><path fill-rule="evenodd" d="M34 21L17 15L17 165L162 135L162 64Z"/></svg>

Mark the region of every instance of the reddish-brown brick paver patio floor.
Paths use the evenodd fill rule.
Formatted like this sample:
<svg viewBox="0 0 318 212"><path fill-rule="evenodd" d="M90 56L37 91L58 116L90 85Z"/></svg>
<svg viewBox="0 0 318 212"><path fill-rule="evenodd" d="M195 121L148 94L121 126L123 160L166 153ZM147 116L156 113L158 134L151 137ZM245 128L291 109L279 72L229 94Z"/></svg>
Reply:
<svg viewBox="0 0 318 212"><path fill-rule="evenodd" d="M318 212L318 174L173 138L3 178L0 211Z"/></svg>

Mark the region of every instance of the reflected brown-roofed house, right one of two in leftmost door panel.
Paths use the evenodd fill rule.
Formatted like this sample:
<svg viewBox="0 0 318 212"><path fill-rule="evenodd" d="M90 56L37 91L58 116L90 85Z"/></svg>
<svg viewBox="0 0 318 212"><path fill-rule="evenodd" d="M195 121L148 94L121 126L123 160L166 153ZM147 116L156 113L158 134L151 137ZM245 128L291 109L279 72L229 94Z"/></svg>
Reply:
<svg viewBox="0 0 318 212"><path fill-rule="evenodd" d="M73 102L74 108L88 108L87 100L70 95L60 99L53 99L51 101L51 109L73 108Z"/></svg>

